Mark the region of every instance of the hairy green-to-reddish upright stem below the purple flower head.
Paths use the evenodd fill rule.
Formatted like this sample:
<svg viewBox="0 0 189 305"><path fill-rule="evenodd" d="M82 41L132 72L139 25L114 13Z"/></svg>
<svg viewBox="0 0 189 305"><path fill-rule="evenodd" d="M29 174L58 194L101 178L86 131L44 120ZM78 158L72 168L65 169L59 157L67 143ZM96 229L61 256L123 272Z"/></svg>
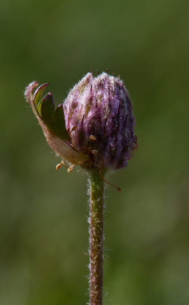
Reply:
<svg viewBox="0 0 189 305"><path fill-rule="evenodd" d="M104 181L98 168L90 170L90 305L102 305Z"/></svg>

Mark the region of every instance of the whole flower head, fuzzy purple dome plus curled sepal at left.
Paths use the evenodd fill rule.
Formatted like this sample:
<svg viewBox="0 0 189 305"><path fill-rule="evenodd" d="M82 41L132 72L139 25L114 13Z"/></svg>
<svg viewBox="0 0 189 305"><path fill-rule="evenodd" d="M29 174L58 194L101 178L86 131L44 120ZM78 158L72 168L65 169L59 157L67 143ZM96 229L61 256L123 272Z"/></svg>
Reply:
<svg viewBox="0 0 189 305"><path fill-rule="evenodd" d="M51 93L40 100L47 84L32 95L37 85L30 84L25 96L58 155L85 168L116 170L127 165L137 140L132 104L123 81L107 73L97 77L88 73L55 112Z"/></svg>

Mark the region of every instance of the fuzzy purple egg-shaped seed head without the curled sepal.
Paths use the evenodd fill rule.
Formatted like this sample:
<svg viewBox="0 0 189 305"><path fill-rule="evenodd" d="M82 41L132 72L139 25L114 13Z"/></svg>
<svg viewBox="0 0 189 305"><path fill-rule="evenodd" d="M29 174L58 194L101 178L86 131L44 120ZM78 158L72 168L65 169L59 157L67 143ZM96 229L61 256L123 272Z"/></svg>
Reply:
<svg viewBox="0 0 189 305"><path fill-rule="evenodd" d="M69 92L63 107L72 147L85 151L91 165L113 170L127 165L137 138L123 81L107 73L88 73Z"/></svg>

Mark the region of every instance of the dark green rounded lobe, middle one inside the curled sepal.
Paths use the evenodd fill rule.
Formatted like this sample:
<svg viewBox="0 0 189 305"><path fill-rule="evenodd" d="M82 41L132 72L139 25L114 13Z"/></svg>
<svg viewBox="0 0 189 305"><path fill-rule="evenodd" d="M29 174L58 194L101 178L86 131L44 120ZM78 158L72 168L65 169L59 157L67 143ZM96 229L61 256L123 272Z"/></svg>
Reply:
<svg viewBox="0 0 189 305"><path fill-rule="evenodd" d="M38 103L37 111L45 123L50 123L54 116L54 110L54 99L52 93L49 92Z"/></svg>

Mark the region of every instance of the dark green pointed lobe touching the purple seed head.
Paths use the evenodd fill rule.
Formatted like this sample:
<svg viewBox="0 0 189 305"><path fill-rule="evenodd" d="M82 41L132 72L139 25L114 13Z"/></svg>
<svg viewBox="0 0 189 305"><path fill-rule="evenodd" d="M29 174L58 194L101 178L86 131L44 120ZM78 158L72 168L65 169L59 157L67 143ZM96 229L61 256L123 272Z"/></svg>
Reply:
<svg viewBox="0 0 189 305"><path fill-rule="evenodd" d="M65 126L63 104L57 107L52 121L46 125L49 131L57 137L61 138L62 140L70 140Z"/></svg>

